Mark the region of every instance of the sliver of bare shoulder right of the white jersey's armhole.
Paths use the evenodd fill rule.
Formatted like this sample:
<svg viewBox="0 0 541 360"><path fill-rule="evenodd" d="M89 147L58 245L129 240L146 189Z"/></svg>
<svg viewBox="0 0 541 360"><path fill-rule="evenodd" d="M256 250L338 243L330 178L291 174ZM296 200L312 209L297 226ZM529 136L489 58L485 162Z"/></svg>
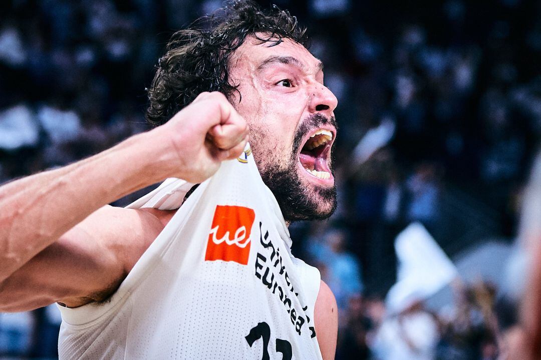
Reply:
<svg viewBox="0 0 541 360"><path fill-rule="evenodd" d="M324 281L321 281L315 301L314 323L323 359L334 359L338 336L338 307L333 292Z"/></svg>

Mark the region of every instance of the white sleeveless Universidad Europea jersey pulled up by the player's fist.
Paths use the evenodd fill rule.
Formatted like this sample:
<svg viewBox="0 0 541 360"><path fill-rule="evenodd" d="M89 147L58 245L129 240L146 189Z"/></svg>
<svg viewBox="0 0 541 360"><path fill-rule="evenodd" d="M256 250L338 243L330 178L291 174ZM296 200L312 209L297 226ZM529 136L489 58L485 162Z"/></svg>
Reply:
<svg viewBox="0 0 541 360"><path fill-rule="evenodd" d="M175 209L168 179L130 208ZM321 359L320 274L291 254L249 145L182 204L101 304L58 306L61 359Z"/></svg>

